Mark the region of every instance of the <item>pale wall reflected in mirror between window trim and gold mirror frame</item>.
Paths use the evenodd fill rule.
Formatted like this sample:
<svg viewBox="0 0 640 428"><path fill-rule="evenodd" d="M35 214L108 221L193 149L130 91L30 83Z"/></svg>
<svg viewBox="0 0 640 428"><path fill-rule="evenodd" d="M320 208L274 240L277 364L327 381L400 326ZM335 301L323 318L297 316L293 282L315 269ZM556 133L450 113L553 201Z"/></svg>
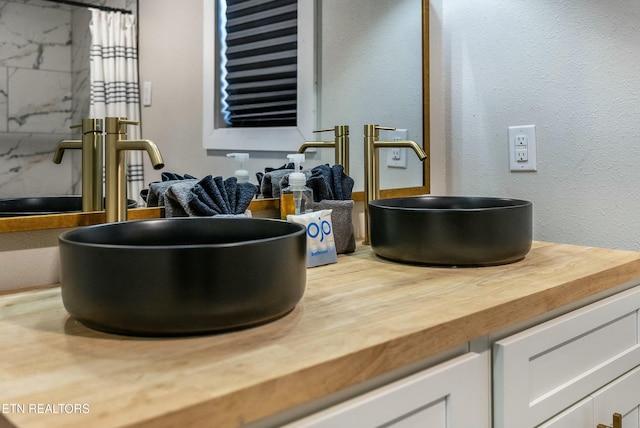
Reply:
<svg viewBox="0 0 640 428"><path fill-rule="evenodd" d="M322 1L320 126L350 126L350 175L359 190L365 124L407 129L422 145L421 10L421 0ZM380 149L382 188L421 186L422 164L413 151L407 169L398 169L386 167L387 150ZM333 161L328 152L326 161Z"/></svg>

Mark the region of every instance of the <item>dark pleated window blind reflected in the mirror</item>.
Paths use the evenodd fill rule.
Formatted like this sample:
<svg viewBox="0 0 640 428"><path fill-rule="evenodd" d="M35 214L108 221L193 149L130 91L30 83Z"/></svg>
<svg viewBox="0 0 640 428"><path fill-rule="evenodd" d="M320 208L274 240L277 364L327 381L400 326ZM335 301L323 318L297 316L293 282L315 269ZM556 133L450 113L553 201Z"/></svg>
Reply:
<svg viewBox="0 0 640 428"><path fill-rule="evenodd" d="M227 126L296 126L297 0L220 3L221 101Z"/></svg>

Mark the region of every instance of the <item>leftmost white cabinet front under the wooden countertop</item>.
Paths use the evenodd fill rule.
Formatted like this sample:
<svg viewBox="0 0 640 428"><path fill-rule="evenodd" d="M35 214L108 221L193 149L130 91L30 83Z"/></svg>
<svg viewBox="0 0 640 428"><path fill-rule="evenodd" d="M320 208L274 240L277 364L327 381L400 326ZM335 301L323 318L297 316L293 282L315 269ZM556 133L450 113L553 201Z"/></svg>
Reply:
<svg viewBox="0 0 640 428"><path fill-rule="evenodd" d="M488 428L487 360L473 352L462 355L287 427Z"/></svg>

